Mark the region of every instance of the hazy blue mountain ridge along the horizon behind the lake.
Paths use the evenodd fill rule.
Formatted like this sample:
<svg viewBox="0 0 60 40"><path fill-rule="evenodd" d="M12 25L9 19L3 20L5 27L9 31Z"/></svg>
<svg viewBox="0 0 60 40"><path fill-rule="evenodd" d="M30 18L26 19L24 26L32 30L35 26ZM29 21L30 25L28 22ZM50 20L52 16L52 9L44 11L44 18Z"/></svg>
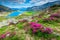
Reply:
<svg viewBox="0 0 60 40"><path fill-rule="evenodd" d="M28 7L28 8L9 8L9 7L6 7L4 5L0 5L0 9L4 11L15 11L15 10L20 10L20 11L33 11L33 10L43 10L43 9L46 9L50 6L53 6L53 5L60 5L60 1L54 1L54 2L48 2L44 5L39 5L39 6L33 6L33 7Z"/></svg>

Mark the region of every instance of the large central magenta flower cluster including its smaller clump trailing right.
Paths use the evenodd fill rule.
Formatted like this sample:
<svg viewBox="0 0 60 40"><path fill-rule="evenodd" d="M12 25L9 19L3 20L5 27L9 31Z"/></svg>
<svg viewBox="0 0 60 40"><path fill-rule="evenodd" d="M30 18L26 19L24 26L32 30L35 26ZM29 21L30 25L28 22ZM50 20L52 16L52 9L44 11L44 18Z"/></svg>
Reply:
<svg viewBox="0 0 60 40"><path fill-rule="evenodd" d="M42 33L48 33L48 34L52 33L51 28L44 27L43 25L35 22L30 23L30 28L32 29L33 33L37 33L38 31Z"/></svg>

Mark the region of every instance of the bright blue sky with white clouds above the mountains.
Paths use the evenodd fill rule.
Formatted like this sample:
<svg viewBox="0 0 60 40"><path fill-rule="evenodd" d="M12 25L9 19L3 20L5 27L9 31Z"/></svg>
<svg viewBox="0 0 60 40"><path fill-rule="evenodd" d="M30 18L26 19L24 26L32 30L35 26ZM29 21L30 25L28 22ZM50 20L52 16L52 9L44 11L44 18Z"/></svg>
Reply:
<svg viewBox="0 0 60 40"><path fill-rule="evenodd" d="M0 0L0 5L4 5L10 8L27 8L54 1L58 0Z"/></svg>

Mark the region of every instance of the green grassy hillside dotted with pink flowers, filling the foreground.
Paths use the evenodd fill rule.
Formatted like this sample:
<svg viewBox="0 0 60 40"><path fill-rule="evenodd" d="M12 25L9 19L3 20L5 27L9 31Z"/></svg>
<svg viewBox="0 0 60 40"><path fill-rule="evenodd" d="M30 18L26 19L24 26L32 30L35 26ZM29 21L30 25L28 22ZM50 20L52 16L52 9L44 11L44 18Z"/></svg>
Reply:
<svg viewBox="0 0 60 40"><path fill-rule="evenodd" d="M25 17L32 16L31 18L32 20L31 21L19 20L19 22L16 24L3 26L2 28L0 28L0 39L1 40L60 40L60 16L59 16L60 12L59 14L57 14L58 12L59 10L54 11L53 14L48 14L45 11L24 12L22 15L15 17L15 19L19 20ZM35 16L33 13L36 13ZM1 20L4 20L3 17L1 17ZM35 29L35 27L38 29Z"/></svg>

